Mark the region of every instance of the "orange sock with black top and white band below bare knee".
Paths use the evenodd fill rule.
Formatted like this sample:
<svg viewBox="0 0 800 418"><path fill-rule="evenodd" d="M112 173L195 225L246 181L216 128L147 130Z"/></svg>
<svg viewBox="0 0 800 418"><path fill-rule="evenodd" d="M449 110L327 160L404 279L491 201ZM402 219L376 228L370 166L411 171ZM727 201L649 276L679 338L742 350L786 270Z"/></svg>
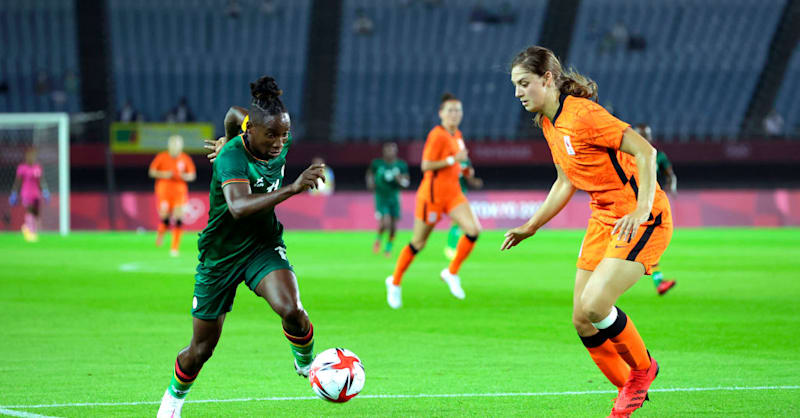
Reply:
<svg viewBox="0 0 800 418"><path fill-rule="evenodd" d="M594 326L614 343L614 348L631 369L646 370L650 367L650 355L647 354L642 336L622 309L613 307L611 314Z"/></svg>

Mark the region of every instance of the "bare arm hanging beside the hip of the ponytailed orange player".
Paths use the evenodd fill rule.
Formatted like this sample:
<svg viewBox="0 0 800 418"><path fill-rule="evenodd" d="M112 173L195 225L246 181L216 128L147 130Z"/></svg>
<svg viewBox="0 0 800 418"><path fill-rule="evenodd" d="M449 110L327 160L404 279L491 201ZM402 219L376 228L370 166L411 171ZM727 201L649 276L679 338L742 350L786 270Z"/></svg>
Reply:
<svg viewBox="0 0 800 418"><path fill-rule="evenodd" d="M619 233L619 240L630 241L639 226L647 222L653 209L656 194L656 149L630 127L622 132L620 151L636 158L639 169L639 196L636 209L623 216L614 224L611 235Z"/></svg>

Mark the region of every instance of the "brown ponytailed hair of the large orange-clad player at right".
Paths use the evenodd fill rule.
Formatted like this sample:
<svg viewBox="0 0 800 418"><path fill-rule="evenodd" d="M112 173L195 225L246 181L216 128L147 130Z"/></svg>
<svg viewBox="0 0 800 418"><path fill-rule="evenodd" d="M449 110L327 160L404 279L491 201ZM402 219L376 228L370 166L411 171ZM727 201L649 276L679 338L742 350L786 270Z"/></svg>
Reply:
<svg viewBox="0 0 800 418"><path fill-rule="evenodd" d="M511 69L518 65L539 77L550 71L561 94L597 101L597 83L572 67L564 70L553 51L543 46L534 45L522 50L511 61ZM541 113L537 113L534 118L537 126L541 118Z"/></svg>

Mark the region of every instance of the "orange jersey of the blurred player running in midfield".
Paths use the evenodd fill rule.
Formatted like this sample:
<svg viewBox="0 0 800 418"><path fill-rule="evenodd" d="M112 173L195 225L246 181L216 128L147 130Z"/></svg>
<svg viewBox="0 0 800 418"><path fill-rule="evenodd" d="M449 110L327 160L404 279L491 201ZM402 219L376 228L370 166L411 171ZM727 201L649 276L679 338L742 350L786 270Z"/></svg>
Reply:
<svg viewBox="0 0 800 418"><path fill-rule="evenodd" d="M455 135L451 135L447 129L438 125L428 133L428 139L425 141L425 148L422 151L422 160L441 161L447 157L455 157L456 153L464 148L461 131L456 130ZM426 171L422 177L422 183L417 189L417 198L436 202L437 199L449 199L461 194L460 173L460 164L453 164L435 171Z"/></svg>

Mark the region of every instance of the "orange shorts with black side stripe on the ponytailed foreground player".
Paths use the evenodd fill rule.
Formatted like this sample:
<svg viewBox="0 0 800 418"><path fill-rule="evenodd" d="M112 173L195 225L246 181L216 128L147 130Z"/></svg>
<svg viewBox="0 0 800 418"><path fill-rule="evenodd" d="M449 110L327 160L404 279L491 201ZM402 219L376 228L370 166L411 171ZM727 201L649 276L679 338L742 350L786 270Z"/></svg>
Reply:
<svg viewBox="0 0 800 418"><path fill-rule="evenodd" d="M672 214L669 210L664 211L648 224L640 226L636 235L628 242L617 240L619 234L611 236L613 224L595 218L589 219L578 254L578 268L594 271L604 258L621 258L638 261L644 265L645 274L652 273L653 266L658 264L672 238Z"/></svg>

